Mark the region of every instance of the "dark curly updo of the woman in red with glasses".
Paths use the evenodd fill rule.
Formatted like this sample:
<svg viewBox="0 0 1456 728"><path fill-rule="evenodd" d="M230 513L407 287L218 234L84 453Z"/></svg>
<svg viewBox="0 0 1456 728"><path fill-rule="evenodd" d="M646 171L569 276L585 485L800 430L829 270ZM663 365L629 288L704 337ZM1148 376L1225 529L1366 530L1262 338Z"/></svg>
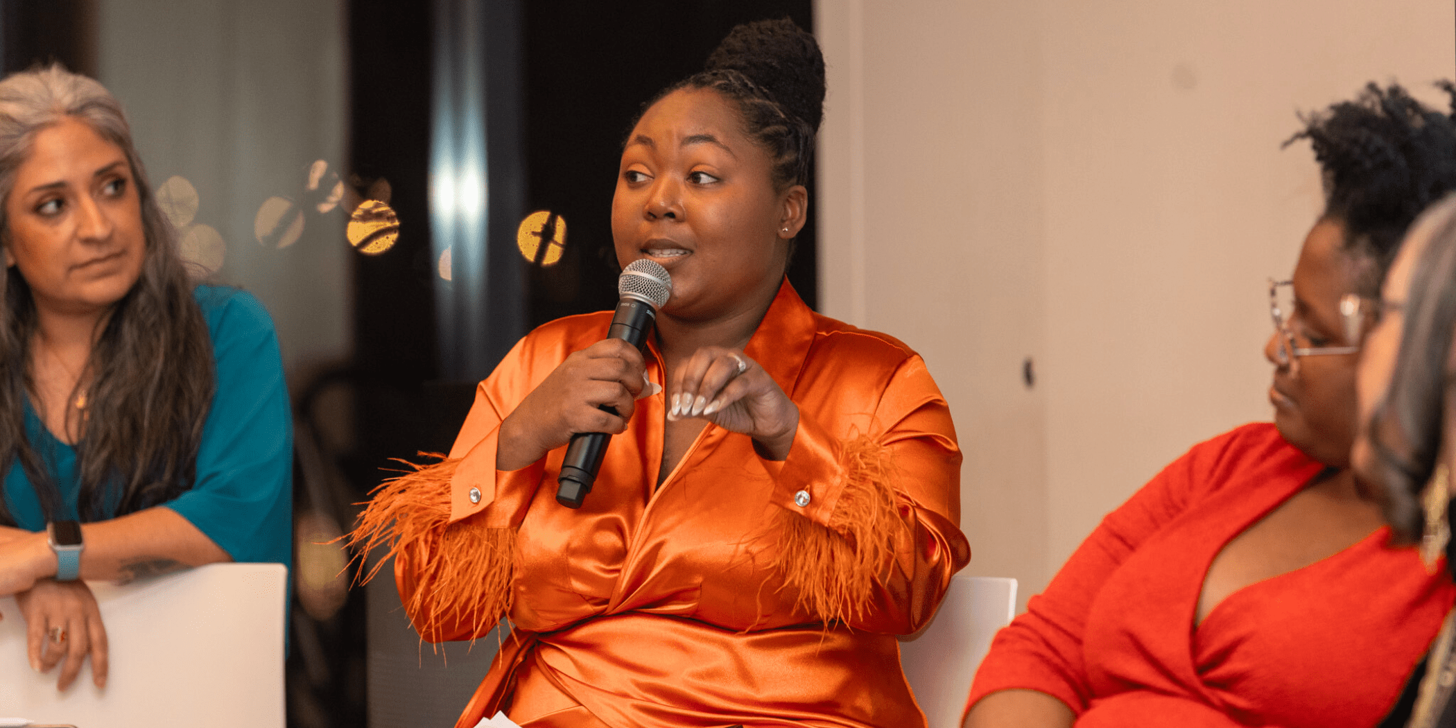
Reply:
<svg viewBox="0 0 1456 728"><path fill-rule="evenodd" d="M1399 84L1370 83L1354 100L1302 115L1325 183L1324 218L1340 223L1345 250L1369 261L1361 296L1379 294L1405 230L1431 202L1456 189L1456 86L1452 112L1424 106Z"/></svg>

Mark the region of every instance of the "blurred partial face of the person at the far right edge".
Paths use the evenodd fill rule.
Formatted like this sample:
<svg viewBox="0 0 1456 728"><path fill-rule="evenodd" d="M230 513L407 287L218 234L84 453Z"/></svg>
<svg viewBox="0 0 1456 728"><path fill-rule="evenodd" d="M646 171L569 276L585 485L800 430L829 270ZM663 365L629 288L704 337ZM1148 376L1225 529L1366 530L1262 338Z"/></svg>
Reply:
<svg viewBox="0 0 1456 728"><path fill-rule="evenodd" d="M1456 339L1456 194L1425 213L1411 234L1428 242L1411 269L1390 383L1369 422L1385 518L1402 543L1425 526L1420 495L1436 470L1444 419L1456 416L1449 361Z"/></svg>

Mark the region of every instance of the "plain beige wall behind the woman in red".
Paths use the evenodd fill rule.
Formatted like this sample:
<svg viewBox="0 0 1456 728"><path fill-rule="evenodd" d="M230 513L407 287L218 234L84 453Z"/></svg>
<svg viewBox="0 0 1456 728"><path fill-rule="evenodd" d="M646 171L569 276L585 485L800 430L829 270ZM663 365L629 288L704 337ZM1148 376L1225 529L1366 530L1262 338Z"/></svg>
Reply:
<svg viewBox="0 0 1456 728"><path fill-rule="evenodd" d="M1449 0L820 0L824 313L917 348L968 572L1022 603L1191 444L1267 419L1265 280L1319 208L1294 114L1456 74ZM1021 383L1021 363L1037 384Z"/></svg>

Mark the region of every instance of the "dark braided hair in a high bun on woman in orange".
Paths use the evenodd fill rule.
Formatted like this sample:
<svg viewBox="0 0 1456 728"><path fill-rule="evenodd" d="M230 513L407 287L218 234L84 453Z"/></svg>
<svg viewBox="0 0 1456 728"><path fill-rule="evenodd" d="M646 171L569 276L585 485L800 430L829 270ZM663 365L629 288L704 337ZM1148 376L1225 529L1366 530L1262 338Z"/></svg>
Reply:
<svg viewBox="0 0 1456 728"><path fill-rule="evenodd" d="M824 119L824 55L794 20L735 26L702 71L658 92L642 114L681 89L712 89L738 103L744 131L773 157L779 189L808 182L814 135Z"/></svg>

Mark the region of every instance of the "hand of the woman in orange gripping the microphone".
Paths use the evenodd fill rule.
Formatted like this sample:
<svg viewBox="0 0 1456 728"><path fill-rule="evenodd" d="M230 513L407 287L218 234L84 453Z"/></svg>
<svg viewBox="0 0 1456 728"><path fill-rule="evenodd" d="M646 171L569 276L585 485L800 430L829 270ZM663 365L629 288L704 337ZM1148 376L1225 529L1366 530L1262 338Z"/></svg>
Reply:
<svg viewBox="0 0 1456 728"><path fill-rule="evenodd" d="M501 422L495 467L526 467L577 432L622 432L646 383L645 371L642 352L620 339L571 354ZM603 405L617 414L603 412Z"/></svg>

